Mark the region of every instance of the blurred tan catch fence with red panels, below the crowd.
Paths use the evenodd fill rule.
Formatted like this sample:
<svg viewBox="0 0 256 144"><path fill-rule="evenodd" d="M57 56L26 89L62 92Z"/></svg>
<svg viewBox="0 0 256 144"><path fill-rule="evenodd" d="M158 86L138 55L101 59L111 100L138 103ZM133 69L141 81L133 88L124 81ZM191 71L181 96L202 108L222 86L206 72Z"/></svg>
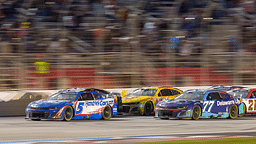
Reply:
<svg viewBox="0 0 256 144"><path fill-rule="evenodd" d="M1 90L256 84L254 53L203 53L194 57L139 52L45 53L8 54L0 59Z"/></svg>

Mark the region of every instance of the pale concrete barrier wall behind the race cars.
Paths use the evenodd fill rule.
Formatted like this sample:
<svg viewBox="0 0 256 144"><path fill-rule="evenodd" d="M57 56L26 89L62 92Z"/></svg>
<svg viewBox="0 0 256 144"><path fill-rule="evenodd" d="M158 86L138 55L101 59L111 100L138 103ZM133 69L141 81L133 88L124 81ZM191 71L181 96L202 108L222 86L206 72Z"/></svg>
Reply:
<svg viewBox="0 0 256 144"><path fill-rule="evenodd" d="M209 87L210 86L194 86L177 88L186 91L189 89L207 89ZM245 87L256 88L256 85L247 85ZM134 89L136 88L106 90L119 93L121 93L122 90L127 90L129 93ZM58 90L0 92L0 116L25 116L25 109L30 102L45 99L56 92L58 92Z"/></svg>

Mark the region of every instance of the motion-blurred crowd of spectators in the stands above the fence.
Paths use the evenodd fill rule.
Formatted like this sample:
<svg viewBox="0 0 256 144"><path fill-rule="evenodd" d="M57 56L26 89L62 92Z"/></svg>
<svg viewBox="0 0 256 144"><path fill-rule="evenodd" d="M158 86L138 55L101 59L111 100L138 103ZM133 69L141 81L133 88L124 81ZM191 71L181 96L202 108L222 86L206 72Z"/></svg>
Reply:
<svg viewBox="0 0 256 144"><path fill-rule="evenodd" d="M213 28L236 25L224 51L256 52L255 7L247 0L1 0L0 51L198 56Z"/></svg>

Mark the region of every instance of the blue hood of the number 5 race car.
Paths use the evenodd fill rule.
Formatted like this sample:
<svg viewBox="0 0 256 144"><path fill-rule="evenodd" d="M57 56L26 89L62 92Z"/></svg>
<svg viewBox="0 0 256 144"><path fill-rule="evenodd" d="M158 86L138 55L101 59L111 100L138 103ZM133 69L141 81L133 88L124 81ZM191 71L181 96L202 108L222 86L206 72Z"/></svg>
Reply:
<svg viewBox="0 0 256 144"><path fill-rule="evenodd" d="M28 107L31 108L53 108L53 107L60 107L66 104L72 103L69 100L39 100L31 102Z"/></svg>

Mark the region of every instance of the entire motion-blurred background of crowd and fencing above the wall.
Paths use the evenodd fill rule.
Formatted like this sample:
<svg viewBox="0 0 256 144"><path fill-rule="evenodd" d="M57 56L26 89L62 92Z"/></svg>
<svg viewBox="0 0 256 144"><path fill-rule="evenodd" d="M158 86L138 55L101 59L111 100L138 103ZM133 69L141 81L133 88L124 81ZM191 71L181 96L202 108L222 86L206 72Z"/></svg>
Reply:
<svg viewBox="0 0 256 144"><path fill-rule="evenodd" d="M0 90L256 83L254 1L1 4Z"/></svg>

